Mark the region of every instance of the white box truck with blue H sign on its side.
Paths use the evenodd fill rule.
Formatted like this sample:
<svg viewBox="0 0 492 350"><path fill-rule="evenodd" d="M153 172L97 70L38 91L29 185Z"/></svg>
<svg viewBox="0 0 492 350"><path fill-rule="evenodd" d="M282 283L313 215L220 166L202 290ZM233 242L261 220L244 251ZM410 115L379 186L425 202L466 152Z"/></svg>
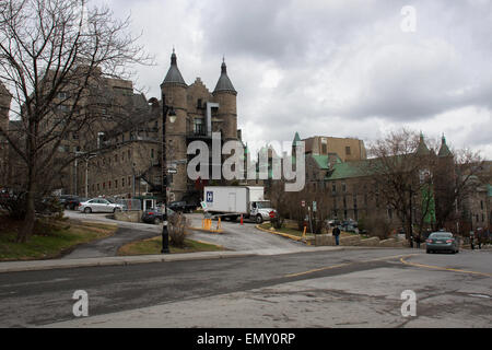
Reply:
<svg viewBox="0 0 492 350"><path fill-rule="evenodd" d="M269 200L265 200L262 186L204 186L204 210L214 215L237 220L253 219L257 223L277 214Z"/></svg>

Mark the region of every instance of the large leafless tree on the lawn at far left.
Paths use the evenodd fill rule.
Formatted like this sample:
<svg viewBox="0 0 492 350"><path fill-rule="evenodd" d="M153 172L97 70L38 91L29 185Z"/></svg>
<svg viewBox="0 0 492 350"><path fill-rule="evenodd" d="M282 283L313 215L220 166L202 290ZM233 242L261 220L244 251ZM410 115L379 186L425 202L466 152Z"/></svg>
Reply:
<svg viewBox="0 0 492 350"><path fill-rule="evenodd" d="M0 133L24 166L27 191L19 242L32 232L39 184L55 164L73 160L60 156L62 141L97 124L112 125L85 107L98 96L102 72L124 77L128 65L150 62L128 25L129 19L115 20L107 8L89 9L83 0L0 3L0 80L12 94L11 113L21 129L14 137L0 126Z"/></svg>

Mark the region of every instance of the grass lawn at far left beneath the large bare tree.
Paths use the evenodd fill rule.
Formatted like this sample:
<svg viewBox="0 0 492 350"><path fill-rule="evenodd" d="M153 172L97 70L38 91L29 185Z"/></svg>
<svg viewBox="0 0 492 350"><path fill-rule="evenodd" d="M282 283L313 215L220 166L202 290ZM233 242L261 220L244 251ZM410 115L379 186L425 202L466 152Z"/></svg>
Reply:
<svg viewBox="0 0 492 350"><path fill-rule="evenodd" d="M37 222L26 243L15 243L22 222L0 218L0 261L52 259L77 245L101 240L116 232L115 225L99 223Z"/></svg>

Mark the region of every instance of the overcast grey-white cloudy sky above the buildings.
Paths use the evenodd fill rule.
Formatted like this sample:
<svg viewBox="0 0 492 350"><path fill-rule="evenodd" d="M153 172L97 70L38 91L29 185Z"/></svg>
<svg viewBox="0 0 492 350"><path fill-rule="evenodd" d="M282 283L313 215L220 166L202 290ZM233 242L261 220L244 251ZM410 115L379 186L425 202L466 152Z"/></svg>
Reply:
<svg viewBox="0 0 492 350"><path fill-rule="evenodd" d="M298 131L368 143L407 127L492 159L492 1L96 1L143 33L149 98L173 46L185 81L210 91L225 56L247 142Z"/></svg>

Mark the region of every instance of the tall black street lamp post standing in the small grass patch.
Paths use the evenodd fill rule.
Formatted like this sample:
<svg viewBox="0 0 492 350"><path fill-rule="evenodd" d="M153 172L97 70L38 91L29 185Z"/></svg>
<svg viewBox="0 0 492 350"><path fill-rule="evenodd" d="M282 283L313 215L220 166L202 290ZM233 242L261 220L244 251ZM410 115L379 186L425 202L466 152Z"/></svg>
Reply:
<svg viewBox="0 0 492 350"><path fill-rule="evenodd" d="M166 105L166 97L162 94L162 196L164 212L162 214L162 254L169 253L169 232L167 231L167 162L166 162L166 119L176 120L176 112L173 106Z"/></svg>

